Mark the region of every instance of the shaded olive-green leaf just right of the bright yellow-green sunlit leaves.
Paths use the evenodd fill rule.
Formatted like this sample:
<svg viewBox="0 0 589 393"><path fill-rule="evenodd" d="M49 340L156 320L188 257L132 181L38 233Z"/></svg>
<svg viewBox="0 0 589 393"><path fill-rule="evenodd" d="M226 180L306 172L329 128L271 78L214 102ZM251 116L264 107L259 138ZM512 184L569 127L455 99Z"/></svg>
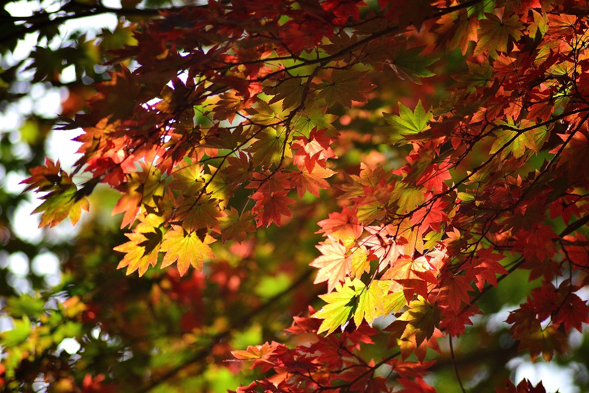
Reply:
<svg viewBox="0 0 589 393"><path fill-rule="evenodd" d="M417 300L409 303L409 309L399 317L399 321L409 322L401 338L415 334L415 342L419 347L424 339L434 335L434 329L440 322L440 313L437 307L419 296Z"/></svg>

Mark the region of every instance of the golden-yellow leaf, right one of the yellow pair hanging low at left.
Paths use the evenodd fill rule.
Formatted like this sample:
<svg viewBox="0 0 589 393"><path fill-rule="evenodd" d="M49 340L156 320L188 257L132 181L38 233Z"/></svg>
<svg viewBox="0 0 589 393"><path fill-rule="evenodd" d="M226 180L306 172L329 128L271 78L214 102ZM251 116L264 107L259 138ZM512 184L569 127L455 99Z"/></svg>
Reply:
<svg viewBox="0 0 589 393"><path fill-rule="evenodd" d="M178 272L184 275L188 267L192 265L197 270L203 269L204 258L212 258L213 250L209 244L215 241L214 238L204 232L186 232L180 225L172 225L172 229L164 234L160 251L166 252L161 262L165 268L178 261Z"/></svg>

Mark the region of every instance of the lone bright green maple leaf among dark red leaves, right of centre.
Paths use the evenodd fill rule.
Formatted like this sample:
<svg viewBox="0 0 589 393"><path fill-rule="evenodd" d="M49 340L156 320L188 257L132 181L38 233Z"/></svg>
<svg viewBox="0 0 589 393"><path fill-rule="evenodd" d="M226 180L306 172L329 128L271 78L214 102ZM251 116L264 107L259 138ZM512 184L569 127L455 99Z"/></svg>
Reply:
<svg viewBox="0 0 589 393"><path fill-rule="evenodd" d="M399 115L383 113L386 122L391 126L383 127L383 131L391 132L389 138L393 144L399 143L406 139L406 136L419 134L429 129L429 121L433 117L432 109L425 111L421 104L421 99L417 102L415 110L411 111L407 106L399 102ZM403 144L408 143L404 141Z"/></svg>

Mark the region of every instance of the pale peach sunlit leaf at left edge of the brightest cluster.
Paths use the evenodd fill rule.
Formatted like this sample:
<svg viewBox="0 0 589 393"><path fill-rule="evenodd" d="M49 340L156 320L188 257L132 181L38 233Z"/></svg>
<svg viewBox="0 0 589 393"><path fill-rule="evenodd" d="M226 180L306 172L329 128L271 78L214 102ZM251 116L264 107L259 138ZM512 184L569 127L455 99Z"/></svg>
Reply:
<svg viewBox="0 0 589 393"><path fill-rule="evenodd" d="M321 252L309 265L319 268L313 284L327 281L327 292L333 291L338 282L343 282L350 273L352 267L350 258L346 255L346 247L336 239L328 237L327 240L316 246Z"/></svg>

